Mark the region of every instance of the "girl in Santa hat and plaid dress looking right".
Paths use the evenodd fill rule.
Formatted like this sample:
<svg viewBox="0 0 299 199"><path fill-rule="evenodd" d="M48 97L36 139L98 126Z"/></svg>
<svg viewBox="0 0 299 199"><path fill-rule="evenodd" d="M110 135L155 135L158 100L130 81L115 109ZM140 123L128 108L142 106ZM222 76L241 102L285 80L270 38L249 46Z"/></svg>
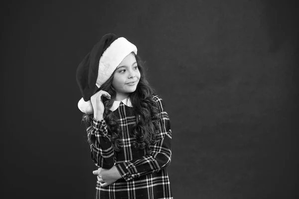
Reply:
<svg viewBox="0 0 299 199"><path fill-rule="evenodd" d="M106 34L77 69L96 199L172 199L169 118L140 62L134 44Z"/></svg>

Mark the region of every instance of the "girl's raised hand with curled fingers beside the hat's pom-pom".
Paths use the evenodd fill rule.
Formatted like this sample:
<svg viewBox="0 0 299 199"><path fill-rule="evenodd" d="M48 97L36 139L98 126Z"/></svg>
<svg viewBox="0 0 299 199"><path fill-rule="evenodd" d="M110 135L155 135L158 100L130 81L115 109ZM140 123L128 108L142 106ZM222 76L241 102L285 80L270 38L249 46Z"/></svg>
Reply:
<svg viewBox="0 0 299 199"><path fill-rule="evenodd" d="M104 104L102 101L102 96L106 97L107 99L111 99L111 95L106 91L100 90L99 92L95 93L91 96L90 101L92 107L94 109L94 118L96 120L102 120L104 114Z"/></svg>

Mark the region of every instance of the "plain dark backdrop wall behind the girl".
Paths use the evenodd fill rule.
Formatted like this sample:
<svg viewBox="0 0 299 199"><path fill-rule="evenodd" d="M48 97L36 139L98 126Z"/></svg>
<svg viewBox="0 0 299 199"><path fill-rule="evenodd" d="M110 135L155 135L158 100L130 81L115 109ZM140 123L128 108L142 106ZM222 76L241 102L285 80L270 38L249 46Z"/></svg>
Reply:
<svg viewBox="0 0 299 199"><path fill-rule="evenodd" d="M6 1L1 198L92 199L78 64L138 47L171 119L175 199L295 199L299 31L291 0Z"/></svg>

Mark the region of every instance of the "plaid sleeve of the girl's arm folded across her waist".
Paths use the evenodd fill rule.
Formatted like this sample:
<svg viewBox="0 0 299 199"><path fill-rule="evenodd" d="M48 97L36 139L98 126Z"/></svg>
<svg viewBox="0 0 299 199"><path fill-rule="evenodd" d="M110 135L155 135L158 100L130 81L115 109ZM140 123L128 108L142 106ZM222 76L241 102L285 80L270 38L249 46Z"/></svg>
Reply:
<svg viewBox="0 0 299 199"><path fill-rule="evenodd" d="M116 165L118 171L126 181L133 178L147 175L166 168L171 162L171 130L170 121L166 111L163 110L162 99L154 96L158 103L160 120L160 132L157 135L157 142L150 146L151 153L142 159L122 162Z"/></svg>

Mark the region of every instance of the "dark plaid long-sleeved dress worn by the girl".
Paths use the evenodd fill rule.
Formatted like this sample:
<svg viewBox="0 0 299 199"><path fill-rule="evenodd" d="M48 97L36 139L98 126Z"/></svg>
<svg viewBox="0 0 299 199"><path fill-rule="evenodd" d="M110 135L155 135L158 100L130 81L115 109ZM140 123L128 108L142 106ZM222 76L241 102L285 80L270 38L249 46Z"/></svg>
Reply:
<svg viewBox="0 0 299 199"><path fill-rule="evenodd" d="M114 165L123 176L115 183L101 187L97 182L96 199L173 199L166 167L171 161L171 130L162 99L154 95L161 116L160 133L157 142L150 146L151 153L132 149L131 143L136 140L130 135L130 125L136 124L133 108L120 102L113 111L122 130L124 147L120 152L113 150L111 136L105 119L93 118L91 133L91 157L97 167L110 169Z"/></svg>

